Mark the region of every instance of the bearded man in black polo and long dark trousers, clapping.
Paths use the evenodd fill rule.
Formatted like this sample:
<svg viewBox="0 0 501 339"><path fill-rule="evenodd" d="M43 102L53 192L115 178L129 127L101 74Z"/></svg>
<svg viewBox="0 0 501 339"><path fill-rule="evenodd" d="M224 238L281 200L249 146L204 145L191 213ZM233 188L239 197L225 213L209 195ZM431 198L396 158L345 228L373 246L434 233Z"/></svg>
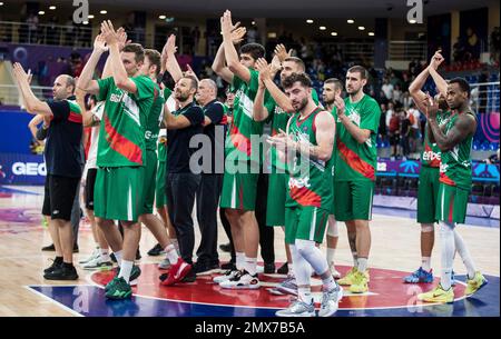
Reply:
<svg viewBox="0 0 501 339"><path fill-rule="evenodd" d="M167 104L164 106L168 138L166 178L168 211L176 230L181 258L189 265L193 263L195 247L191 211L202 179L200 175L190 168L190 158L197 148L190 147L189 141L194 136L203 133L204 123L204 111L194 102L196 91L196 78L185 76L176 83L174 91L179 109L170 112ZM183 281L194 281L195 278L195 271L191 270Z"/></svg>

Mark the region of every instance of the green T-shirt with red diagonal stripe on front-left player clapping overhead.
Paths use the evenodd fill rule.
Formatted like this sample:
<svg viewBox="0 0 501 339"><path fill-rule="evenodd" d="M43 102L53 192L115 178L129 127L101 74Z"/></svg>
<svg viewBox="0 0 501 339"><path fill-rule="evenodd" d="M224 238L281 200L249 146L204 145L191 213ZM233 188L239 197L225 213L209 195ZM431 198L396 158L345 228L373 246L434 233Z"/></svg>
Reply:
<svg viewBox="0 0 501 339"><path fill-rule="evenodd" d="M98 167L144 166L145 123L155 96L155 83L145 76L130 78L137 93L119 89L114 78L98 80L98 101L106 100L98 141Z"/></svg>

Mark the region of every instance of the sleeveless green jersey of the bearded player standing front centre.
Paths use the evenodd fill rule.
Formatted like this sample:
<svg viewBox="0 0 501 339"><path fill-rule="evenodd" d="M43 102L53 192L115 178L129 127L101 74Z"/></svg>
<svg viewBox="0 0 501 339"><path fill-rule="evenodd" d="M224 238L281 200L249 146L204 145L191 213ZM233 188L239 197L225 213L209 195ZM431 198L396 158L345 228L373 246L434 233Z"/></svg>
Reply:
<svg viewBox="0 0 501 339"><path fill-rule="evenodd" d="M287 131L293 140L317 146L315 118L321 111L321 108L316 108L303 120L298 112L293 114ZM325 162L305 159L301 154L296 154L288 168L288 196L285 206L313 206L331 211L333 206L333 164L334 158L332 157Z"/></svg>

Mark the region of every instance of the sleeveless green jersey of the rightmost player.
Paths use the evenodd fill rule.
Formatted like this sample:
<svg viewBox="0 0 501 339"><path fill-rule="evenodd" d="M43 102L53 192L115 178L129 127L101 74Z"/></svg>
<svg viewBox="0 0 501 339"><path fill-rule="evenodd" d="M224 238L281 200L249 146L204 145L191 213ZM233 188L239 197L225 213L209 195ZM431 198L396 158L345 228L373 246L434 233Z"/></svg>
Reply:
<svg viewBox="0 0 501 339"><path fill-rule="evenodd" d="M475 114L472 111L468 111L461 114L472 114L475 119ZM452 114L449 121L445 122L444 133L451 131L458 120L459 114ZM454 146L453 149L442 152L442 161L440 163L440 182L456 186L461 189L471 189L471 143L473 136L469 136L466 139Z"/></svg>

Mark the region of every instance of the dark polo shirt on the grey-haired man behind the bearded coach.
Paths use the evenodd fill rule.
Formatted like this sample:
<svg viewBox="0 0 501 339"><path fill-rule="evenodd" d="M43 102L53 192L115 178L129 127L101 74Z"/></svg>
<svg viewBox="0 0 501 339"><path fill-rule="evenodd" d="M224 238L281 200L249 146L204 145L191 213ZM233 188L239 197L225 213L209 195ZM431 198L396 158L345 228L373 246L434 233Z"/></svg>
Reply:
<svg viewBox="0 0 501 339"><path fill-rule="evenodd" d="M210 171L204 173L223 173L225 163L226 117L223 103L213 100L203 108L204 114L212 123L204 127L204 134L210 139Z"/></svg>

